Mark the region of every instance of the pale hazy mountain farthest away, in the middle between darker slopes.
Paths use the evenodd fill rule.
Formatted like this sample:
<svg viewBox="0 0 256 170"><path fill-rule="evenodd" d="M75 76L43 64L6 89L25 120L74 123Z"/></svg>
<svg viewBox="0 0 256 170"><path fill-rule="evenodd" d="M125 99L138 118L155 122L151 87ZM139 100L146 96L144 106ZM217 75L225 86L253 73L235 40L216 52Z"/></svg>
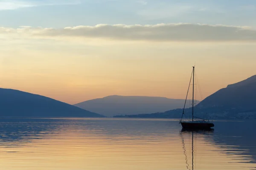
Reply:
<svg viewBox="0 0 256 170"><path fill-rule="evenodd" d="M170 109L184 107L185 100L163 97L146 96L119 96L111 95L105 98L97 98L84 101L74 106L88 109L106 116L134 115L148 112L165 112ZM189 107L189 102L187 106Z"/></svg>

